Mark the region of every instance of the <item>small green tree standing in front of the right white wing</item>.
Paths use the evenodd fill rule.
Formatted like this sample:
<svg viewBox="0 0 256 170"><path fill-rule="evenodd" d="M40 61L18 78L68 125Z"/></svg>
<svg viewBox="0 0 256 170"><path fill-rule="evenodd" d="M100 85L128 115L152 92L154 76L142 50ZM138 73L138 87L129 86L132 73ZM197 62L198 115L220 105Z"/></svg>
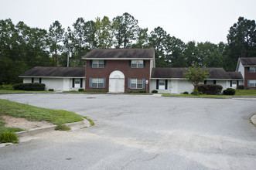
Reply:
<svg viewBox="0 0 256 170"><path fill-rule="evenodd" d="M197 90L198 84L209 77L209 71L206 70L205 66L200 68L200 66L197 66L197 63L193 63L192 66L186 69L184 76L188 79L189 83L193 84L194 95L199 95Z"/></svg>

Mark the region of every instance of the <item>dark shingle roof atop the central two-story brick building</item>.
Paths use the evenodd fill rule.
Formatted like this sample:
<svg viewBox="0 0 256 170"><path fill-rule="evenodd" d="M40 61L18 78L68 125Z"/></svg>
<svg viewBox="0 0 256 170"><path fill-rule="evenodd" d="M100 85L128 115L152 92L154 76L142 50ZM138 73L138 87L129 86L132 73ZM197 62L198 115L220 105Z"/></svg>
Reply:
<svg viewBox="0 0 256 170"><path fill-rule="evenodd" d="M155 49L93 49L83 59L151 59Z"/></svg>

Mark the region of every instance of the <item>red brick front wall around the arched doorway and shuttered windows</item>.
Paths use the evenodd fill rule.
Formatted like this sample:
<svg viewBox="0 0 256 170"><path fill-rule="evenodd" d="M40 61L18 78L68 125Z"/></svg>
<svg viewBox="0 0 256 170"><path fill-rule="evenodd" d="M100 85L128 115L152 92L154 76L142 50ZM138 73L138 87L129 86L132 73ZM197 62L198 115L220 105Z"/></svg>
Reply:
<svg viewBox="0 0 256 170"><path fill-rule="evenodd" d="M146 89L128 89L128 79L142 79L148 80L146 88L149 92L149 80L150 80L150 60L144 60L145 68L129 68L129 60L106 60L105 68L91 68L91 60L87 60L85 68L86 76L86 89L87 91L108 91L109 87L109 75L119 70L125 74L125 92L128 91L143 91ZM90 78L106 78L106 88L90 88Z"/></svg>

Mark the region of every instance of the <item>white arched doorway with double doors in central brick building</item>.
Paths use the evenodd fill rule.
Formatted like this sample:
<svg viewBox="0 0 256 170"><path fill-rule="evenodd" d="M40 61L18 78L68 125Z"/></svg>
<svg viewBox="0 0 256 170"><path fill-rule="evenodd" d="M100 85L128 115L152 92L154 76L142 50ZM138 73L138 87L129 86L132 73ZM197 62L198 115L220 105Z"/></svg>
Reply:
<svg viewBox="0 0 256 170"><path fill-rule="evenodd" d="M111 93L125 92L125 74L121 71L115 70L109 75L109 88Z"/></svg>

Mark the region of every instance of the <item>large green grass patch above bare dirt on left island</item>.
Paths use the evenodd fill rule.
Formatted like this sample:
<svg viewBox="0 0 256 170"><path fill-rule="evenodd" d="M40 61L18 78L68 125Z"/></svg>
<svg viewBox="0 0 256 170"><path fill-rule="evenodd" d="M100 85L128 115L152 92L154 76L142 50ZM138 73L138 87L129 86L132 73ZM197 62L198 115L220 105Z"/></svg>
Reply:
<svg viewBox="0 0 256 170"><path fill-rule="evenodd" d="M9 100L0 100L0 108L0 115L24 117L29 121L49 121L53 124L83 121L83 117L70 111L34 107L29 104L19 104Z"/></svg>

